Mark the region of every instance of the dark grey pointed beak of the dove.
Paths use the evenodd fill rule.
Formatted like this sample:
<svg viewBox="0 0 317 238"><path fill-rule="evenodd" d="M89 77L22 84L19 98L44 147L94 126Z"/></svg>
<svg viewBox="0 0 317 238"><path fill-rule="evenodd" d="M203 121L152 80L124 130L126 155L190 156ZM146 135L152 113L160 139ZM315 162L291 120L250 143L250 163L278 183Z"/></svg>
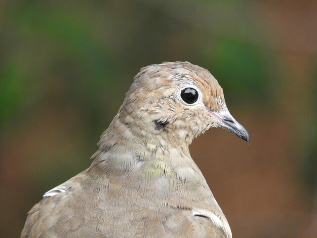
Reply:
<svg viewBox="0 0 317 238"><path fill-rule="evenodd" d="M210 114L218 118L219 127L233 132L237 137L250 142L250 136L247 130L229 113L228 110L223 110L220 112L210 111Z"/></svg>

